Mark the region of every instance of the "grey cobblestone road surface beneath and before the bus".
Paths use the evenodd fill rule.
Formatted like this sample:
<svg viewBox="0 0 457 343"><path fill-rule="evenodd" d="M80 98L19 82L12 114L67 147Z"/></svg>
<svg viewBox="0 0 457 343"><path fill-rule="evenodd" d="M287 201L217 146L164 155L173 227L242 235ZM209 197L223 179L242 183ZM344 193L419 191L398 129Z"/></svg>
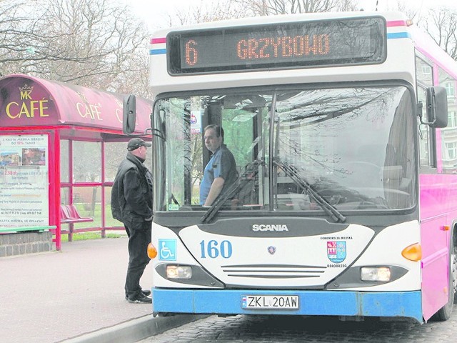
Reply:
<svg viewBox="0 0 457 343"><path fill-rule="evenodd" d="M446 322L418 324L408 320L341 322L336 317L211 316L149 337L141 343L167 342L370 342L455 343L457 304Z"/></svg>

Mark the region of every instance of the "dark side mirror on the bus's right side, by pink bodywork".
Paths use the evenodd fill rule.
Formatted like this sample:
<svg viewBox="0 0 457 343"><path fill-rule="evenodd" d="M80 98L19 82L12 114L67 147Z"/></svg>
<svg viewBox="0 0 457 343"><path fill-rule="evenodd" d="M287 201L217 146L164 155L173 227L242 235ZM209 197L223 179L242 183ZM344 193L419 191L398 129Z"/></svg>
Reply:
<svg viewBox="0 0 457 343"><path fill-rule="evenodd" d="M431 127L441 128L448 126L448 96L446 88L440 86L429 87L426 90L427 121Z"/></svg>

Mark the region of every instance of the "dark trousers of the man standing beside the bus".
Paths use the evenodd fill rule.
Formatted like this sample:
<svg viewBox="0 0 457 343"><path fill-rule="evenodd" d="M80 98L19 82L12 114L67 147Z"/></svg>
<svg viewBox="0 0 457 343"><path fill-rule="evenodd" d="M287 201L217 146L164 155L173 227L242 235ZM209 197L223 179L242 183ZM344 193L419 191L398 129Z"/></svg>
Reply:
<svg viewBox="0 0 457 343"><path fill-rule="evenodd" d="M151 222L144 222L143 227L132 229L126 227L129 233L129 267L126 277L126 296L129 299L144 297L141 293L140 279L146 265L151 259L148 257L148 244L151 242Z"/></svg>

